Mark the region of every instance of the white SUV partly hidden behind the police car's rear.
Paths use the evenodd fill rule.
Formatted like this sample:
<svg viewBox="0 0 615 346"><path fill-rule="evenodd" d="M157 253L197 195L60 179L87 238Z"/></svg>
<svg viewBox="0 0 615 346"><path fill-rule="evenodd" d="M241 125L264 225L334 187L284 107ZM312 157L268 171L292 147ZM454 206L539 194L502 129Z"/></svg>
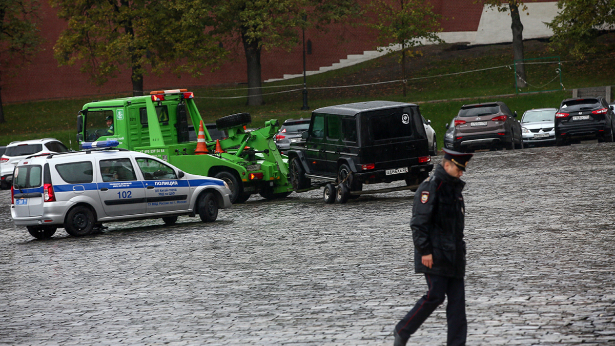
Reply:
<svg viewBox="0 0 615 346"><path fill-rule="evenodd" d="M0 159L0 187L2 190L10 188L13 179L13 169L20 159L30 155L44 155L51 153L64 153L68 148L55 138L24 140L11 142Z"/></svg>

